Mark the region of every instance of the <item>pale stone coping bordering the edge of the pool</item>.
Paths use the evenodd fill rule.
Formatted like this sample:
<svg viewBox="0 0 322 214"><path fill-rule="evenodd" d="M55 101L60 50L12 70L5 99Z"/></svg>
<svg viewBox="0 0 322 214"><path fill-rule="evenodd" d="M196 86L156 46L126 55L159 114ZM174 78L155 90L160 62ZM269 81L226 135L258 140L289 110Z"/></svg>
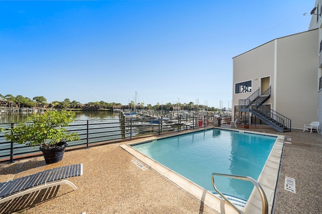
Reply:
<svg viewBox="0 0 322 214"><path fill-rule="evenodd" d="M135 158L142 161L146 164L149 168L155 170L156 172L160 173L168 180L172 181L179 187L183 188L200 201L208 205L210 208L214 209L219 213L237 213L233 207L231 207L228 203L226 203L223 199L219 198L218 196L214 195L210 191L202 188L198 184L192 182L191 180L183 177L182 175L178 174L177 172L169 169L168 167L164 166L163 164L158 163L157 161L153 160L152 158L138 152L134 148L131 147L133 144L138 143L146 143L152 140L159 140L168 137L178 136L182 134L204 131L208 129L224 129L229 131L237 131L237 132L245 132L245 133L252 133L252 134L260 134L260 135L268 135L268 136L275 136L277 137L274 146L267 158L267 161L263 167L263 170L258 178L258 182L262 186L267 200L268 200L268 209L269 213L273 208L274 198L275 198L275 189L278 183L278 174L280 170L280 163L281 163L281 156L282 150L284 146L284 135L276 135L276 134L269 134L269 133L259 133L253 131L245 131L245 130L236 130L236 129L229 129L229 128L221 128L221 127L210 127L210 128L202 128L198 130L192 130L184 133L175 133L173 135L167 136L160 136L160 137L152 137L148 139L141 139L135 142L131 142L128 144L120 145L121 148L132 154ZM210 178L209 178L210 179ZM245 209L241 209L247 213L261 213L262 212L262 200L257 189L253 189L251 196L248 200L248 203L245 206Z"/></svg>

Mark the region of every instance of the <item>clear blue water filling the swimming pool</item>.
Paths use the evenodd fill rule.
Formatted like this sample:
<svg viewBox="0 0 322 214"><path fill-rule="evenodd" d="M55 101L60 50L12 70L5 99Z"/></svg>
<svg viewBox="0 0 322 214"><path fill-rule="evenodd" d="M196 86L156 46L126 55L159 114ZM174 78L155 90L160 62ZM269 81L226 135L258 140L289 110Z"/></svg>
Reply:
<svg viewBox="0 0 322 214"><path fill-rule="evenodd" d="M139 152L214 192L213 172L258 179L277 137L210 129L132 145ZM225 194L248 200L254 184L215 176Z"/></svg>

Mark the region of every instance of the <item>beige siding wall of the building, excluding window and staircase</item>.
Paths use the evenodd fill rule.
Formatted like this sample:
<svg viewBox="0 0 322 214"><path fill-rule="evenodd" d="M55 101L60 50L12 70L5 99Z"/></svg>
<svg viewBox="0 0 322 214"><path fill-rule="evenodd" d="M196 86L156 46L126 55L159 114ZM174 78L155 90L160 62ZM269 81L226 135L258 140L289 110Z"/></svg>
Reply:
<svg viewBox="0 0 322 214"><path fill-rule="evenodd" d="M233 58L232 104L246 99L270 77L265 104L292 120L292 128L317 118L318 30L279 38ZM252 92L235 94L235 83L252 80ZM234 108L233 108L234 109ZM234 113L234 112L233 112Z"/></svg>

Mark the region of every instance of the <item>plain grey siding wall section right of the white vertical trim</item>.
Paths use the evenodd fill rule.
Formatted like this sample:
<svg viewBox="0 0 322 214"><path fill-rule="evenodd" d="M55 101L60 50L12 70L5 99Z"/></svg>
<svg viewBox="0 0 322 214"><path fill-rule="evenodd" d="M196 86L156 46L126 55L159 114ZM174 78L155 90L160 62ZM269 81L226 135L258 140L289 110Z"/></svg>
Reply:
<svg viewBox="0 0 322 214"><path fill-rule="evenodd" d="M276 111L292 128L317 119L318 30L278 39Z"/></svg>

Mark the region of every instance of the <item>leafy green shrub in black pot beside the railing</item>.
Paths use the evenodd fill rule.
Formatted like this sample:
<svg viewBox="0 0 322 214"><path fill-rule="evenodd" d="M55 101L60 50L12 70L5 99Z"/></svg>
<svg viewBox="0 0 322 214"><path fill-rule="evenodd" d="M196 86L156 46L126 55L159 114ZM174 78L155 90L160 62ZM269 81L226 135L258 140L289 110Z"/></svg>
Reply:
<svg viewBox="0 0 322 214"><path fill-rule="evenodd" d="M48 111L32 115L23 122L10 128L5 137L18 144L39 145L46 164L62 160L67 141L79 140L78 133L71 133L64 127L74 121L74 113L68 111Z"/></svg>

